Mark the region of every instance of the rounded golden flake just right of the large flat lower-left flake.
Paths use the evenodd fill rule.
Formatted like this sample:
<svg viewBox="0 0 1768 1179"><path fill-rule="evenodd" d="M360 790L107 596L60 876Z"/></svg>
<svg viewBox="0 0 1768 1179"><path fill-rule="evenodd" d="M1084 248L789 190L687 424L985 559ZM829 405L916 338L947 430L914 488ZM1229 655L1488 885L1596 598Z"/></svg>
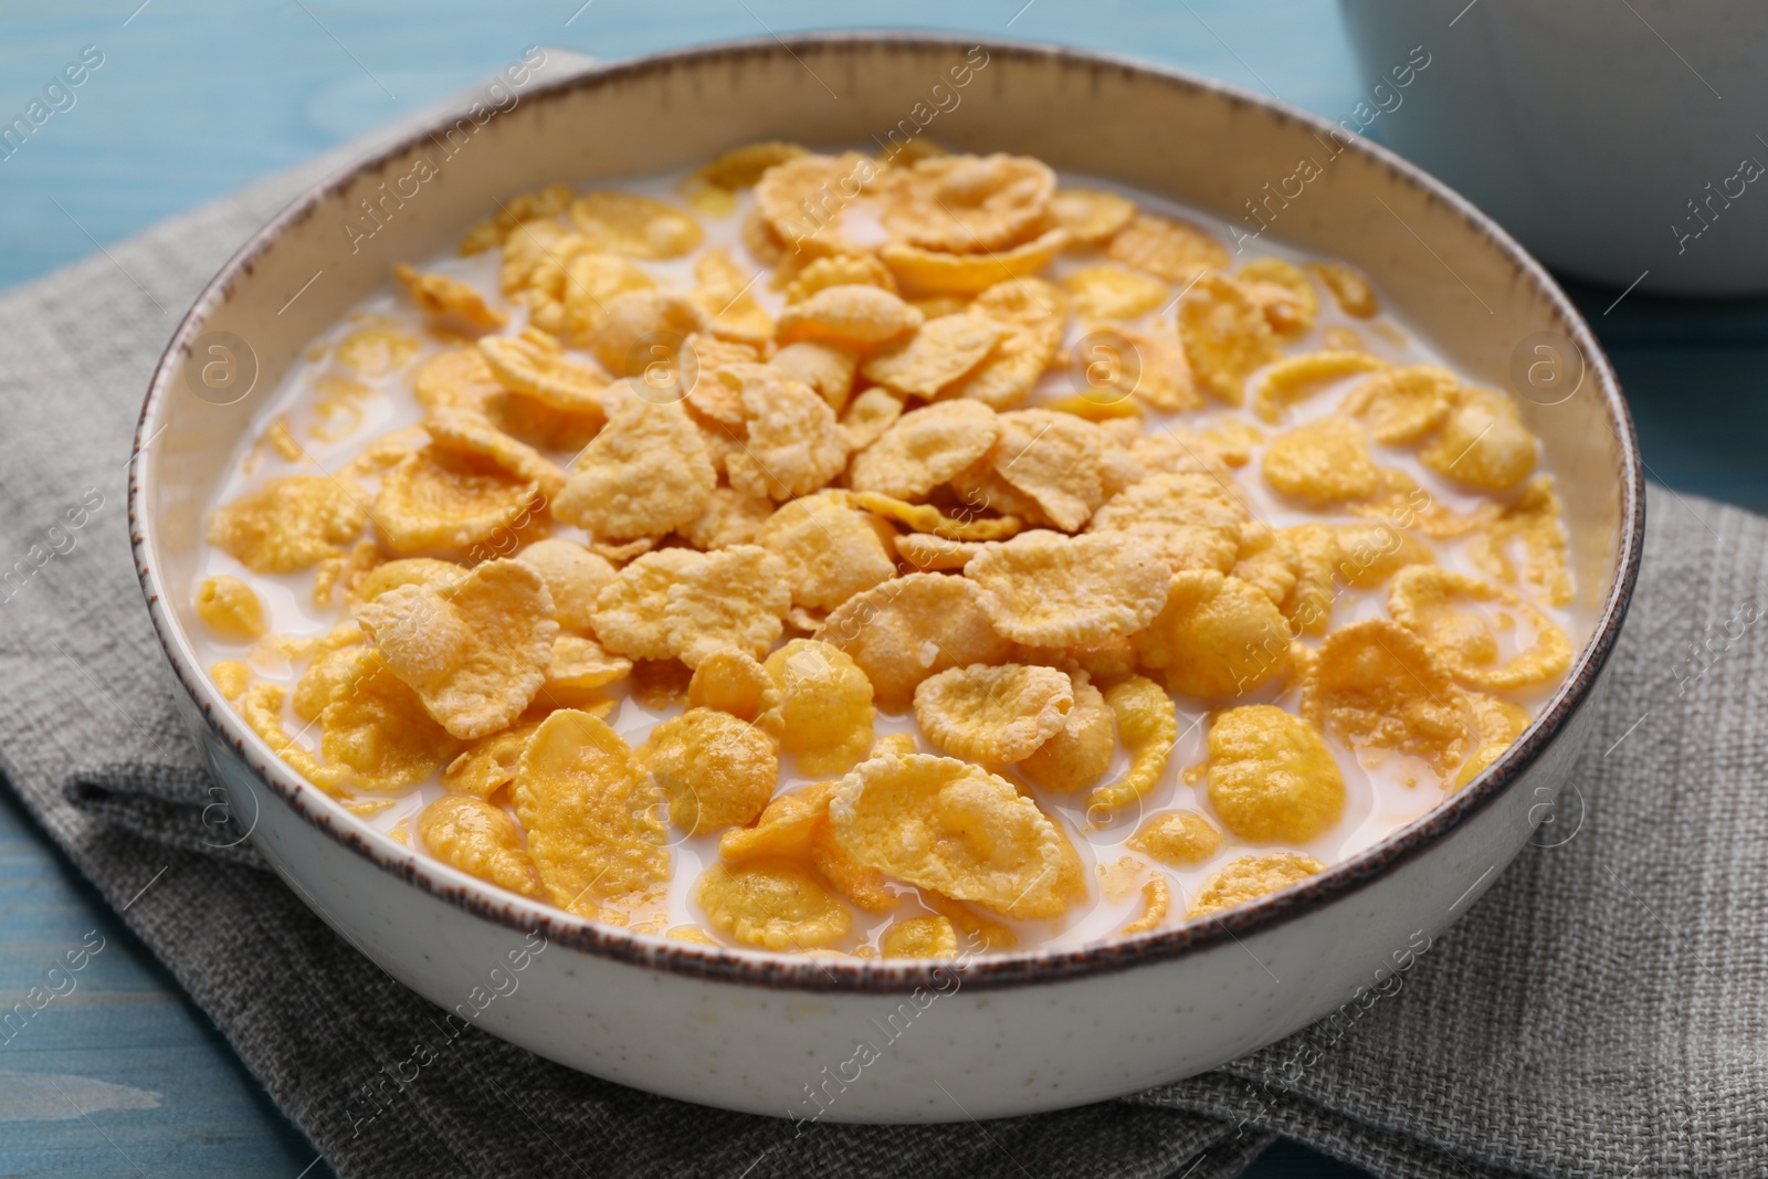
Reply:
<svg viewBox="0 0 1768 1179"><path fill-rule="evenodd" d="M668 820L688 834L753 822L780 781L780 749L755 725L718 709L688 709L656 728L638 762L668 797Z"/></svg>

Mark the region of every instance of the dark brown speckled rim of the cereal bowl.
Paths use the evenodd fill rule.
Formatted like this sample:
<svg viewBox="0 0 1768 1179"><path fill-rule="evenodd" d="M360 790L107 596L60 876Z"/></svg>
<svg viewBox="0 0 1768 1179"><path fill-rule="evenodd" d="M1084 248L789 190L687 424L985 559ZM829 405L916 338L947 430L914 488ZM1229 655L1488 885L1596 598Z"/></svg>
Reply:
<svg viewBox="0 0 1768 1179"><path fill-rule="evenodd" d="M1068 69L1082 71L1121 71L1140 74L1169 87L1190 90L1215 101L1241 108L1257 108L1262 113L1303 126L1315 133L1328 133L1335 124L1275 101L1241 87L1232 87L1209 78L1200 78L1186 71L1142 62L1116 53L1075 49L1068 46L1048 46L1038 42L1006 41L994 37L974 37L956 34L923 34L895 30L829 30L801 32L785 37L746 37L735 41L716 41L697 46L651 53L617 62L594 64L573 72L559 81L550 81L523 92L525 101L546 103L583 88L598 88L619 83L628 78L670 71L675 67L713 67L721 60L753 60L757 57L797 57L797 51L812 51L826 46L849 49L900 49L925 51L942 48L981 46L990 57L1002 55L1010 60L1054 62ZM1025 949L1001 955L960 956L956 960L852 960L820 955L780 955L748 949L728 949L670 940L661 935L633 933L624 928L596 924L585 917L576 917L552 905L530 901L497 886L469 877L440 861L421 856L414 848L396 843L385 834L370 829L341 804L318 790L292 767L278 758L267 742L246 726L233 707L223 700L202 672L189 638L184 635L177 617L166 608L164 583L156 562L154 521L141 511L140 497L147 481L156 474L157 460L152 442L159 428L161 407L166 403L166 391L187 355L191 341L200 334L203 323L232 293L233 285L251 272L253 263L285 230L304 221L316 207L355 177L382 168L389 159L401 156L431 133L451 126L447 115L433 115L421 126L401 134L371 154L354 159L336 168L322 180L308 186L281 212L258 228L221 267L221 270L203 286L191 309L180 320L171 341L166 345L149 384L147 398L136 426L134 449L129 460L129 529L131 548L141 592L147 599L149 615L159 638L161 650L171 663L173 673L189 693L203 723L212 735L228 746L253 776L274 795L286 802L304 822L318 827L325 836L345 848L362 856L382 871L391 873L403 884L414 886L430 896L467 910L495 924L516 932L541 932L548 942L557 942L571 949L612 958L635 967L665 970L677 976L700 977L721 983L739 983L750 986L804 990L804 992L859 992L859 993L903 993L921 986L949 986L953 972L962 974L964 986L978 990L1048 985L1073 981L1094 974L1124 970L1132 967L1153 965L1195 955L1204 949L1241 942L1245 937L1273 930L1326 905L1344 900L1363 886L1386 877L1407 864L1432 847L1441 843L1450 833L1482 813L1524 774L1570 723L1577 711L1588 702L1597 675L1607 663L1619 636L1621 624L1632 599L1632 590L1639 576L1639 560L1644 537L1644 472L1639 454L1639 442L1634 431L1627 399L1612 366L1597 343L1589 325L1579 315L1572 300L1559 290L1520 244L1505 230L1475 209L1466 198L1453 193L1443 182L1432 179L1418 166L1400 159L1388 148L1356 136L1347 150L1360 152L1370 163L1379 164L1395 179L1423 189L1430 198L1457 212L1480 235L1483 235L1536 292L1545 295L1559 327L1586 359L1586 371L1595 377L1595 389L1602 396L1609 417L1609 428L1619 442L1619 536L1616 564L1611 567L1612 585L1602 603L1589 642L1574 659L1565 682L1552 695L1542 712L1535 718L1524 735L1512 744L1503 757L1475 778L1467 787L1443 799L1420 818L1391 831L1376 845L1351 856L1303 882L1266 894L1259 900L1238 905L1208 919L1185 923L1167 930L1139 933L1112 940L1093 942L1063 949ZM304 893L304 889L302 889ZM311 896L306 896L315 903ZM324 910L322 910L324 914ZM334 919L336 923L336 919Z"/></svg>

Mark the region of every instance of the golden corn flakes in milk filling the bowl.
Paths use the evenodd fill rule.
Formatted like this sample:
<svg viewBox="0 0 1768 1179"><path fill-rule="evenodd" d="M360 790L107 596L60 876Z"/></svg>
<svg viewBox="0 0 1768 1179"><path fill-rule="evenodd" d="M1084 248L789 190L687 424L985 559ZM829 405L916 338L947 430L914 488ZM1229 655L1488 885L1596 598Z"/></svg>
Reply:
<svg viewBox="0 0 1768 1179"><path fill-rule="evenodd" d="M789 143L460 253L495 288L401 265L315 345L352 456L271 421L194 608L295 771L522 896L859 956L1151 932L1321 871L1345 767L1464 787L1570 665L1536 440L1383 359L1349 267Z"/></svg>

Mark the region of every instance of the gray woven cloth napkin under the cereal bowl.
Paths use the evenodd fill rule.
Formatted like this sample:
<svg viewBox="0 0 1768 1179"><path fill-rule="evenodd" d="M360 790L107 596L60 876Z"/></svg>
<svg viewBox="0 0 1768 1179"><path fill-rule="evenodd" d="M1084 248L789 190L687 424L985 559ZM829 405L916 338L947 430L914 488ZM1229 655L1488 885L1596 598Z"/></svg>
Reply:
<svg viewBox="0 0 1768 1179"><path fill-rule="evenodd" d="M801 1137L467 1029L449 1068L359 1124L339 1078L403 1059L440 1011L332 935L212 806L124 506L177 316L347 154L0 295L0 771L339 1175L1202 1177L1238 1174L1273 1133L1383 1175L1768 1174L1768 521L1664 488L1577 788L1377 999L1124 1101Z"/></svg>

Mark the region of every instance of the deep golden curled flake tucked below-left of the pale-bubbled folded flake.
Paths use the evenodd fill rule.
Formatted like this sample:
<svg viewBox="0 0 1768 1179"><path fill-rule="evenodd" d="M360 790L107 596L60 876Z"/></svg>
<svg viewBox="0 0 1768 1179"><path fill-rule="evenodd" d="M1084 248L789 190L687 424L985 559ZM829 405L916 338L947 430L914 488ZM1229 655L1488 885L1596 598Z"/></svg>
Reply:
<svg viewBox="0 0 1768 1179"><path fill-rule="evenodd" d="M460 744L430 719L382 654L366 647L348 654L338 695L318 716L320 753L362 790L400 790L442 769Z"/></svg>

